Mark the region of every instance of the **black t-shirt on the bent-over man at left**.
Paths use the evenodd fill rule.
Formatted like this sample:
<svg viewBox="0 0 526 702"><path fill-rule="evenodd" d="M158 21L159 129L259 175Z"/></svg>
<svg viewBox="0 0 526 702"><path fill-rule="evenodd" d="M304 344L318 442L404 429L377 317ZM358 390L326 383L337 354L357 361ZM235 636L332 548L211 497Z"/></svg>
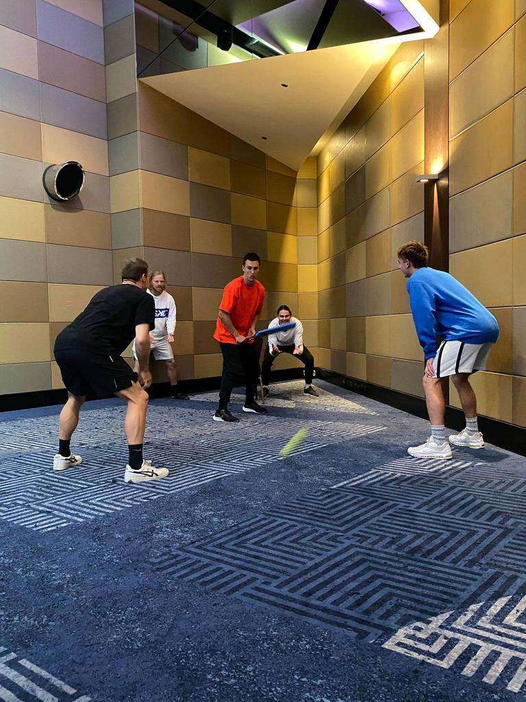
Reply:
<svg viewBox="0 0 526 702"><path fill-rule="evenodd" d="M79 317L61 331L55 351L83 348L121 355L135 338L135 325L155 326L153 296L135 285L114 285L99 291Z"/></svg>

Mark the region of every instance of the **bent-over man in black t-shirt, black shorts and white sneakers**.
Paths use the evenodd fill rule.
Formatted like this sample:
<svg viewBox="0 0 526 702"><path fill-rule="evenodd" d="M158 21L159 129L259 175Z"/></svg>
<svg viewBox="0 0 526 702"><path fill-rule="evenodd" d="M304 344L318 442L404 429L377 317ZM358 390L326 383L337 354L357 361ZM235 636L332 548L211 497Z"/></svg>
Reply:
<svg viewBox="0 0 526 702"><path fill-rule="evenodd" d="M128 404L124 431L129 461L124 480L135 483L166 477L168 470L154 468L151 461L142 458L148 408L144 388L151 385L149 333L155 326L154 298L146 293L148 264L142 258L132 258L123 265L121 277L121 285L98 292L55 340L55 359L69 398L60 413L59 452L53 459L53 470L82 463L69 449L69 442L88 392L95 397L114 394ZM133 338L138 376L121 358Z"/></svg>

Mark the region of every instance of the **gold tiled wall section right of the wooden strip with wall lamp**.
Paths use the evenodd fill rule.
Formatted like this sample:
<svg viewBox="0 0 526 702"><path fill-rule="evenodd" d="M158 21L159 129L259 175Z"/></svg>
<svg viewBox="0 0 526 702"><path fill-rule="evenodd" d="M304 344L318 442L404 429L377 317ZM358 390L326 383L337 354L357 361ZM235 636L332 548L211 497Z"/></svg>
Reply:
<svg viewBox="0 0 526 702"><path fill-rule="evenodd" d="M526 4L450 13L450 272L493 312L481 414L526 425ZM452 388L452 404L459 406Z"/></svg>

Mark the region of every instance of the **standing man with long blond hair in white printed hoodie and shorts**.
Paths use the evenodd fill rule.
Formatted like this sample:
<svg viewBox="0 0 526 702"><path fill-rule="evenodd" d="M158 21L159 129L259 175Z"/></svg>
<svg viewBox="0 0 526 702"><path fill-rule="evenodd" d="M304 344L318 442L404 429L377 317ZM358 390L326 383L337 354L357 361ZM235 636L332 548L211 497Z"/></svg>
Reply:
<svg viewBox="0 0 526 702"><path fill-rule="evenodd" d="M155 329L150 332L151 354L156 361L166 362L166 372L174 392L172 399L187 399L187 395L177 392L176 389L177 369L175 368L175 360L170 343L173 342L177 310L175 300L170 293L166 292L166 276L162 270L151 272L147 292L155 301ZM135 358L135 366L137 366L135 343L133 345L133 357Z"/></svg>

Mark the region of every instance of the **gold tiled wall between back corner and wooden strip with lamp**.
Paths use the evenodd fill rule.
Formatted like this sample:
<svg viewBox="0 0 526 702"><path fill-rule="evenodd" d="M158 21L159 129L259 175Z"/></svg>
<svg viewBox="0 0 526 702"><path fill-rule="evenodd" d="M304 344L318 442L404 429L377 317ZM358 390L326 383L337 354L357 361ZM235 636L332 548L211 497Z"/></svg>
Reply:
<svg viewBox="0 0 526 702"><path fill-rule="evenodd" d="M396 249L424 237L423 49L403 44L325 145L317 192L316 362L414 395L422 350Z"/></svg>

